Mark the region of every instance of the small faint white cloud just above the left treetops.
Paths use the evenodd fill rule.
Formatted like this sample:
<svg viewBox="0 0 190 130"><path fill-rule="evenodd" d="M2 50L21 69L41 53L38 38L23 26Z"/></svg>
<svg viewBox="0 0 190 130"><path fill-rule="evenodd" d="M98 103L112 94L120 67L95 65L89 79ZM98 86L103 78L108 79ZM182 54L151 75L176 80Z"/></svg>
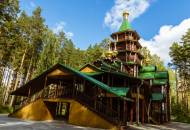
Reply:
<svg viewBox="0 0 190 130"><path fill-rule="evenodd" d="M54 33L58 34L59 32L63 31L65 32L65 35L67 38L71 39L74 34L72 32L67 32L65 30L66 23L61 21L55 25L55 27L52 29Z"/></svg>

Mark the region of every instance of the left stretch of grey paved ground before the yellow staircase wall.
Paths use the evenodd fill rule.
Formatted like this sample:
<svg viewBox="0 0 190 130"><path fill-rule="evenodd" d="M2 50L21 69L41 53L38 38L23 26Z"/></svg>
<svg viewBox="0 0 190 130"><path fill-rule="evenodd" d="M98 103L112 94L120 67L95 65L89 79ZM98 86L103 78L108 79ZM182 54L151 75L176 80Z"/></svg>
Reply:
<svg viewBox="0 0 190 130"><path fill-rule="evenodd" d="M0 115L0 130L100 130L100 129L69 125L64 123L63 121L24 121L16 118L7 117L7 115Z"/></svg>

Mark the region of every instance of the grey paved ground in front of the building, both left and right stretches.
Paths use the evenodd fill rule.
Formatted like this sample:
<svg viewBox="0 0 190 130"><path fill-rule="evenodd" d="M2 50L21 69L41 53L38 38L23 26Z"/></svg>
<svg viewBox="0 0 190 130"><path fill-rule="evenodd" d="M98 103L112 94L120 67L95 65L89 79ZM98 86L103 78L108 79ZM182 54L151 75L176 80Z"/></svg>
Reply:
<svg viewBox="0 0 190 130"><path fill-rule="evenodd" d="M103 130L74 126L63 121L24 121L0 115L0 130ZM190 130L190 124L172 122L165 125L146 124L141 127L131 126L129 130Z"/></svg>

